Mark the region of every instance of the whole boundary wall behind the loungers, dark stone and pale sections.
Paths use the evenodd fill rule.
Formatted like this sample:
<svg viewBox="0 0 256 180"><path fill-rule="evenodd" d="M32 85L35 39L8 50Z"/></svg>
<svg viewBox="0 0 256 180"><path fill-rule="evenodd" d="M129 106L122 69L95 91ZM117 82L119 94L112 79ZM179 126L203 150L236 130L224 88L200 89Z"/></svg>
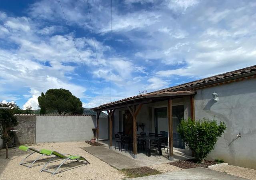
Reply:
<svg viewBox="0 0 256 180"><path fill-rule="evenodd" d="M15 145L39 142L64 142L90 140L92 128L96 127L95 115L21 115L17 114L18 125ZM108 127L106 127L107 129ZM2 148L0 140L0 149Z"/></svg>

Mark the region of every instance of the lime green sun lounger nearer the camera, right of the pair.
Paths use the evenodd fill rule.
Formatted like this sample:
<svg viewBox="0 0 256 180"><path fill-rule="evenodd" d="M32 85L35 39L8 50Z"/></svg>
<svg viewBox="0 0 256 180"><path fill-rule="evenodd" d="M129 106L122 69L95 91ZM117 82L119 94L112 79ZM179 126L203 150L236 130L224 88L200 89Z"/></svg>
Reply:
<svg viewBox="0 0 256 180"><path fill-rule="evenodd" d="M52 173L52 176L53 176L54 174L56 174L56 172L58 171L58 169L59 169L67 160L76 160L76 161L78 161L78 162L84 163L84 165L90 164L90 163L88 162L88 160L86 160L86 158L84 158L84 157L82 157L82 156L78 156L78 155L71 156L70 154L68 154L69 156L66 156L66 154L61 154L61 153L59 153L59 152L57 152L57 151L50 151L50 150L46 150L46 149L42 149L42 150L40 151L40 153L43 153L43 154L46 154L46 153L47 153L47 154L55 155L54 157L50 158L50 160L49 160L49 161L44 165L44 167L40 170L40 172L45 171L45 172ZM55 167L58 167L58 168L57 168L54 172L50 172L50 171L46 170L46 169L45 169L46 166L47 166L52 160L54 160L55 158L61 158L61 159L63 159L62 163L61 163L60 165L58 165L58 166L55 166Z"/></svg>

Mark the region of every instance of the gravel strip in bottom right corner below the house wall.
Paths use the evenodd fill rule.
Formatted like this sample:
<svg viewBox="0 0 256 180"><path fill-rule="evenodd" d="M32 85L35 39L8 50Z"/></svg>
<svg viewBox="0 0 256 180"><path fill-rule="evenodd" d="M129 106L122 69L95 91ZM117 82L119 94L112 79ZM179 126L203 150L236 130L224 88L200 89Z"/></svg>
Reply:
<svg viewBox="0 0 256 180"><path fill-rule="evenodd" d="M255 169L242 168L239 166L232 166L232 165L220 166L220 167L217 166L217 167L214 167L211 169L220 171L220 172L225 172L227 174L232 174L234 176L239 176L241 178L256 180L256 170Z"/></svg>

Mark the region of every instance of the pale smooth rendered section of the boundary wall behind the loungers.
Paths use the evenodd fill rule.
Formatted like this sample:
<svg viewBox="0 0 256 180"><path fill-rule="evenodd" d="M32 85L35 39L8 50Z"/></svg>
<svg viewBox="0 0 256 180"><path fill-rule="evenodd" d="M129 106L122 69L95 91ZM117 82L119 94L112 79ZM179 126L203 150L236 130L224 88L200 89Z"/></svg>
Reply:
<svg viewBox="0 0 256 180"><path fill-rule="evenodd" d="M36 143L90 140L95 116L36 116Z"/></svg>

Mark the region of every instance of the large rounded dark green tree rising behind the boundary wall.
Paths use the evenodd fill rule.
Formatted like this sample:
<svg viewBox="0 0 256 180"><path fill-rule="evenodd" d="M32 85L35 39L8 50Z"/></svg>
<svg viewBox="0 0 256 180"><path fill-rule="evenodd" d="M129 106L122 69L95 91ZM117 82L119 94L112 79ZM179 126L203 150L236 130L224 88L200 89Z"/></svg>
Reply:
<svg viewBox="0 0 256 180"><path fill-rule="evenodd" d="M49 113L74 115L84 112L80 99L66 89L49 89L45 95L42 93L38 100L39 106L45 107Z"/></svg>

